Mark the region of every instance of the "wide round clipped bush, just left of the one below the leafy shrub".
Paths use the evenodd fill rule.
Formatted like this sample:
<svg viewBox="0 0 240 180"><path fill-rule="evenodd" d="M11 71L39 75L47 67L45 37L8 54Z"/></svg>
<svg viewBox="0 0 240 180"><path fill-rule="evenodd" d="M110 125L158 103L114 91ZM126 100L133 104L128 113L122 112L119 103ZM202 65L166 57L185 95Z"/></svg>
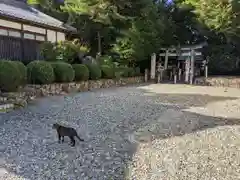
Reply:
<svg viewBox="0 0 240 180"><path fill-rule="evenodd" d="M50 84L54 82L54 71L50 63L46 61L32 61L27 65L29 83Z"/></svg>

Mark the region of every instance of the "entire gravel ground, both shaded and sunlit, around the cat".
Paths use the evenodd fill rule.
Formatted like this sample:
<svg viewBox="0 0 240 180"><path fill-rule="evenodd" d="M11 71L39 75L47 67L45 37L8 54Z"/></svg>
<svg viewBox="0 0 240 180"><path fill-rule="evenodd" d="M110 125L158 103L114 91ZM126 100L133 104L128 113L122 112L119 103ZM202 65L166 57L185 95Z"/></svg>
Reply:
<svg viewBox="0 0 240 180"><path fill-rule="evenodd" d="M146 85L0 115L0 180L240 179L240 90ZM54 122L85 142L58 144Z"/></svg>

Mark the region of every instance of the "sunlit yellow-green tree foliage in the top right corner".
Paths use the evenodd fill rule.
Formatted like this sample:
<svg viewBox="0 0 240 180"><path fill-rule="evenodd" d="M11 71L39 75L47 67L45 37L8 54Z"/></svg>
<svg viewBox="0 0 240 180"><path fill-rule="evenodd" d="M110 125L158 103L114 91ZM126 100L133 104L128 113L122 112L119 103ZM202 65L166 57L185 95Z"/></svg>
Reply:
<svg viewBox="0 0 240 180"><path fill-rule="evenodd" d="M238 0L184 0L191 5L200 23L226 37L239 36Z"/></svg>

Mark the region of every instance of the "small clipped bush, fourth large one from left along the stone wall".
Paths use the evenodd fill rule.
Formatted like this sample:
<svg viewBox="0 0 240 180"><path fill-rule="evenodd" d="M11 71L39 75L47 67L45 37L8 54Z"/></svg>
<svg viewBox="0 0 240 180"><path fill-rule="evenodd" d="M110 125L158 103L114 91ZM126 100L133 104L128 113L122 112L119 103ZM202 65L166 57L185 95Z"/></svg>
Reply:
<svg viewBox="0 0 240 180"><path fill-rule="evenodd" d="M84 64L73 64L72 65L75 71L75 80L76 81L86 81L89 79L89 70Z"/></svg>

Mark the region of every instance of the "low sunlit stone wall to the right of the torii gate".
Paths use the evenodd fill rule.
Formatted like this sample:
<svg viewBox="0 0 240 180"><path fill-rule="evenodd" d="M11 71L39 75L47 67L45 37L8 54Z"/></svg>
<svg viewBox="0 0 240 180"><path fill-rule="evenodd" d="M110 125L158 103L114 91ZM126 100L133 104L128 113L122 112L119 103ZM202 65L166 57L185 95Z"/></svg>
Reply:
<svg viewBox="0 0 240 180"><path fill-rule="evenodd" d="M219 76L219 77L199 77L195 79L196 85L217 86L217 87L232 87L240 88L240 77Z"/></svg>

